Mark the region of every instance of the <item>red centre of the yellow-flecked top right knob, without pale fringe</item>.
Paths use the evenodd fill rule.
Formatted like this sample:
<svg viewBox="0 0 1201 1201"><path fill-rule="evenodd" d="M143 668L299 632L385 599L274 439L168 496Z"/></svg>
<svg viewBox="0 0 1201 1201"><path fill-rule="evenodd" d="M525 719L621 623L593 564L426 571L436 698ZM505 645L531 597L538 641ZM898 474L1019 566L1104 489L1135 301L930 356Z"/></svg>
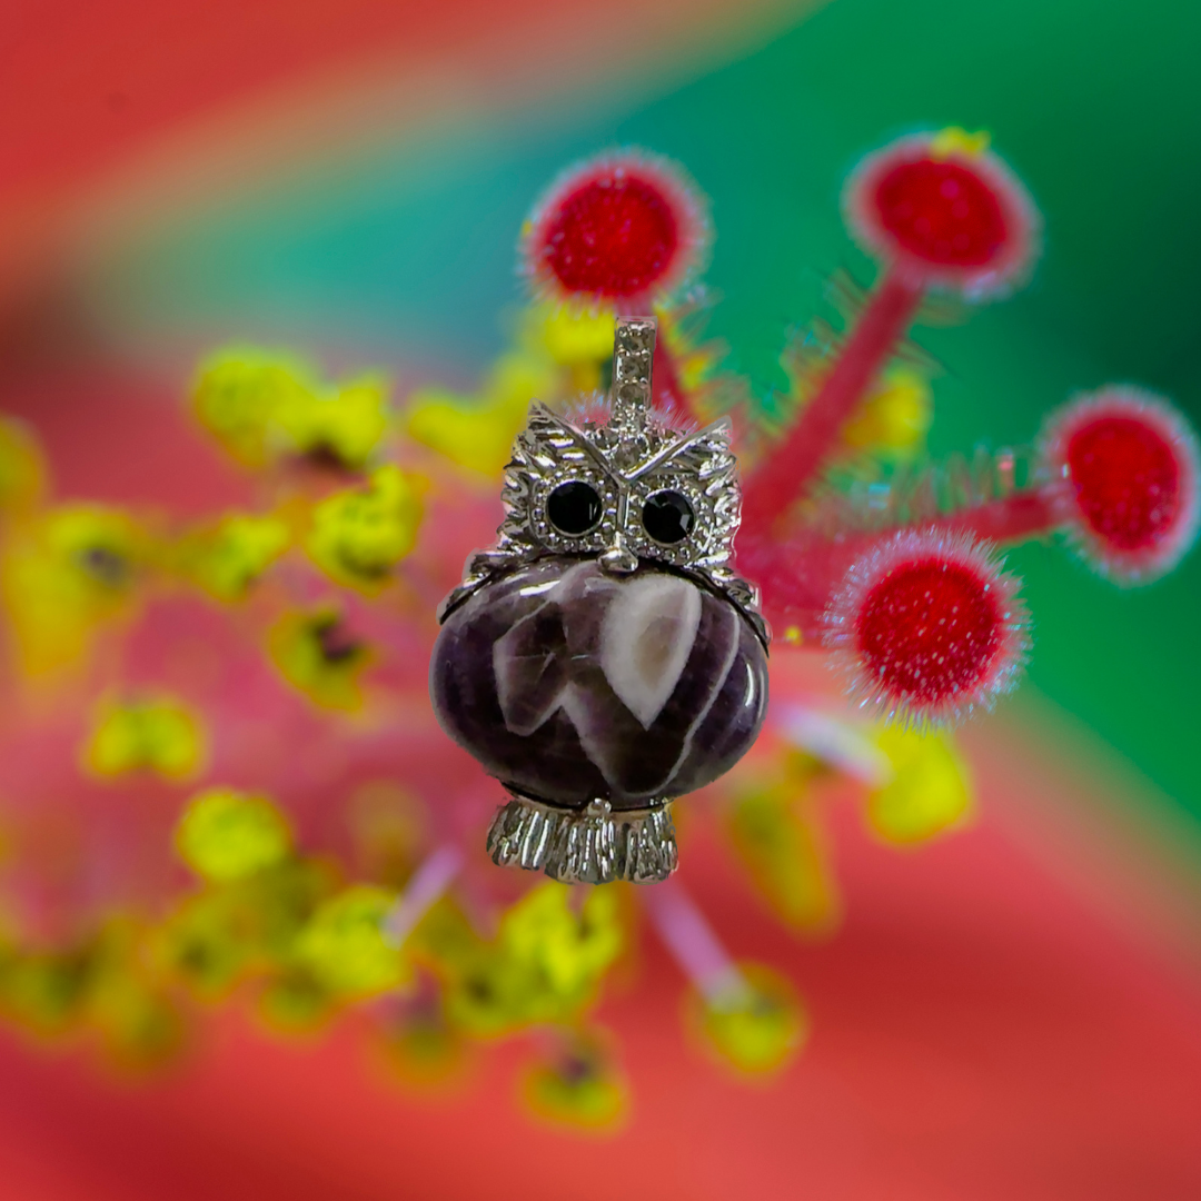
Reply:
<svg viewBox="0 0 1201 1201"><path fill-rule="evenodd" d="M880 225L910 255L940 267L986 267L1009 228L996 193L958 162L902 162L876 185Z"/></svg>

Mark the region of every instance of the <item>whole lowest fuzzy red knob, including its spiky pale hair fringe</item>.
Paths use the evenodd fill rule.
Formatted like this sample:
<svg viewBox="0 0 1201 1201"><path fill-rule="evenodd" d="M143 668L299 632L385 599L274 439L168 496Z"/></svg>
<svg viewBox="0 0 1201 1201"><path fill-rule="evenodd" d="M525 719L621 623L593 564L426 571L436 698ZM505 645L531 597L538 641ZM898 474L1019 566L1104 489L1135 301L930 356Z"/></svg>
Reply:
<svg viewBox="0 0 1201 1201"><path fill-rule="evenodd" d="M1017 581L986 545L938 530L903 531L848 572L825 617L825 644L852 697L919 724L990 707L1029 646Z"/></svg>

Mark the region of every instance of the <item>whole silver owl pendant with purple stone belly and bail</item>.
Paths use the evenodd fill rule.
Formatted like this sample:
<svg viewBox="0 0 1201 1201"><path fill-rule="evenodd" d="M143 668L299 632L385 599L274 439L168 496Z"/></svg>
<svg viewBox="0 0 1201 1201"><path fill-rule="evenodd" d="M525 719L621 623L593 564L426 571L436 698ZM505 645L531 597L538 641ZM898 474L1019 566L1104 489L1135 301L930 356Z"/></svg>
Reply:
<svg viewBox="0 0 1201 1201"><path fill-rule="evenodd" d="M430 663L442 728L512 794L494 861L566 882L670 876L671 800L727 772L767 705L767 627L729 567L730 422L656 419L655 339L619 319L599 419L531 408Z"/></svg>

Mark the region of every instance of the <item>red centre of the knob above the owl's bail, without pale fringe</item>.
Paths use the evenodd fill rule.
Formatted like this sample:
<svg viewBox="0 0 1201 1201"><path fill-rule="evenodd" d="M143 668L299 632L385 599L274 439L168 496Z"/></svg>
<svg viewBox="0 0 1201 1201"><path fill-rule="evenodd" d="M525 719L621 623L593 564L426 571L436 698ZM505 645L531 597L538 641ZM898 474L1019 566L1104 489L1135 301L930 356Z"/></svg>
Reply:
<svg viewBox="0 0 1201 1201"><path fill-rule="evenodd" d="M563 201L542 259L568 292L617 298L653 287L677 246L675 216L658 190L600 177Z"/></svg>

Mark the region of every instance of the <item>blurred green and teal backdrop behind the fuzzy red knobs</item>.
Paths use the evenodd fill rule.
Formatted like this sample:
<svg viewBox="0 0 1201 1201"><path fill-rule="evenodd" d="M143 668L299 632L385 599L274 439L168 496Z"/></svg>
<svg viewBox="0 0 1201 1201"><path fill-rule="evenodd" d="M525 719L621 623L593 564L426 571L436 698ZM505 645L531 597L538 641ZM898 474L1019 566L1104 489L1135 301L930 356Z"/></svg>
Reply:
<svg viewBox="0 0 1201 1201"><path fill-rule="evenodd" d="M1201 8L833 0L745 46L313 161L107 264L97 305L131 345L199 330L466 384L519 295L532 197L572 159L629 143L681 160L711 197L712 330L766 394L787 330L830 316L829 275L871 280L839 219L847 171L907 129L956 124L992 132L1042 209L1046 250L1017 297L918 330L944 369L932 450L1028 441L1107 381L1164 392L1201 426ZM1129 591L1056 546L1011 567L1035 619L1030 683L1201 826L1201 556Z"/></svg>

